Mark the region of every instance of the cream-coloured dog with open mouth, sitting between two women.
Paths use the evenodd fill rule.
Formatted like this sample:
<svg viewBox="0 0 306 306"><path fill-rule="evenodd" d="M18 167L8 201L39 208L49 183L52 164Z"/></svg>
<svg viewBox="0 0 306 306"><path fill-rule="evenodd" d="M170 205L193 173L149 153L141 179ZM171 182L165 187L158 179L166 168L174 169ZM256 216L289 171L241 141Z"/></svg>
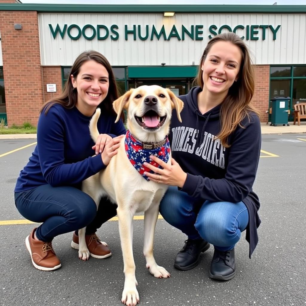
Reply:
<svg viewBox="0 0 306 306"><path fill-rule="evenodd" d="M180 112L183 102L172 91L157 85L140 86L127 91L114 101L114 110L120 118L122 109L127 109L127 127L130 133L140 142L147 145L162 142L169 132L172 109L176 109L181 121ZM99 136L97 121L100 109L91 119L89 129L96 141ZM127 157L125 137L121 140L118 154L115 155L105 170L89 177L83 182L82 190L90 195L97 206L101 196L107 196L117 203L119 233L123 253L125 283L122 303L134 306L139 302L136 289L135 262L132 250L132 220L136 212L144 211L144 256L146 267L157 278L167 278L170 274L157 265L153 256L155 225L159 213L159 203L166 192L167 185L147 181L138 173ZM171 155L169 156L168 163ZM85 228L79 230L79 257L89 257L85 243Z"/></svg>

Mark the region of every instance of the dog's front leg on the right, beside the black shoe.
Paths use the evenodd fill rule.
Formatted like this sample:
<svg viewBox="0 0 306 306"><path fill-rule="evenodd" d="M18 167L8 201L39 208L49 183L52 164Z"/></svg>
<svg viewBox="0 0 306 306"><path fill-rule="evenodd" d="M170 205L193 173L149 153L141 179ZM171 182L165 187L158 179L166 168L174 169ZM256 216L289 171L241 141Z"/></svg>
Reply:
<svg viewBox="0 0 306 306"><path fill-rule="evenodd" d="M158 212L159 203L152 203L144 213L144 256L147 262L146 267L151 274L157 278L167 278L170 277L170 273L164 267L159 266L153 256L154 232Z"/></svg>

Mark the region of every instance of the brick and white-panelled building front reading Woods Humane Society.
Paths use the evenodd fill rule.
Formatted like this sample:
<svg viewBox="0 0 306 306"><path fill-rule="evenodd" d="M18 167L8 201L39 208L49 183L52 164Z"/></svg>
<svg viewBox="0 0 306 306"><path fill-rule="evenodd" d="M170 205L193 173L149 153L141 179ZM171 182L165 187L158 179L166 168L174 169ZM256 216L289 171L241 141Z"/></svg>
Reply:
<svg viewBox="0 0 306 306"><path fill-rule="evenodd" d="M235 32L252 53L253 103L262 121L268 119L271 98L290 97L290 110L306 101L306 6L3 2L0 116L9 126L37 123L40 107L61 93L71 65L84 50L106 56L121 93L159 84L185 94L207 42L223 32Z"/></svg>

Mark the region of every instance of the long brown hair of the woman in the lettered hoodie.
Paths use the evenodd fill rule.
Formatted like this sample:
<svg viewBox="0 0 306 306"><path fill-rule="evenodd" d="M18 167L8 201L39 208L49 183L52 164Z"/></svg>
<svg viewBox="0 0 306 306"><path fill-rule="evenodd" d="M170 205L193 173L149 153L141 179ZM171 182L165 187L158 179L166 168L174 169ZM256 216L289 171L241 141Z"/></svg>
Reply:
<svg viewBox="0 0 306 306"><path fill-rule="evenodd" d="M223 100L220 108L221 131L216 136L220 139L224 147L230 147L228 144L228 136L241 126L244 118L250 120L250 112L254 112L260 117L259 111L252 105L251 99L254 95L254 70L247 46L241 38L235 33L222 33L213 37L203 51L200 65L198 68L197 83L203 89L202 64L205 61L211 46L218 42L230 42L241 50L241 65L238 73L238 79L229 88L228 94Z"/></svg>

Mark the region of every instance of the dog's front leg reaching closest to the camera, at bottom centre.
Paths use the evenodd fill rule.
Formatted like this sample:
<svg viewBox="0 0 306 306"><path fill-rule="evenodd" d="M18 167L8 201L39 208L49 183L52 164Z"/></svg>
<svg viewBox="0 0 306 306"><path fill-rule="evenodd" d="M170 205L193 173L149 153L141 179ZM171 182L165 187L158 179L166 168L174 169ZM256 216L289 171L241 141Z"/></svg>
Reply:
<svg viewBox="0 0 306 306"><path fill-rule="evenodd" d="M132 249L132 221L133 213L120 207L118 203L117 214L119 220L119 233L123 255L125 282L121 302L127 306L135 306L139 302L139 293L136 289L135 262Z"/></svg>

